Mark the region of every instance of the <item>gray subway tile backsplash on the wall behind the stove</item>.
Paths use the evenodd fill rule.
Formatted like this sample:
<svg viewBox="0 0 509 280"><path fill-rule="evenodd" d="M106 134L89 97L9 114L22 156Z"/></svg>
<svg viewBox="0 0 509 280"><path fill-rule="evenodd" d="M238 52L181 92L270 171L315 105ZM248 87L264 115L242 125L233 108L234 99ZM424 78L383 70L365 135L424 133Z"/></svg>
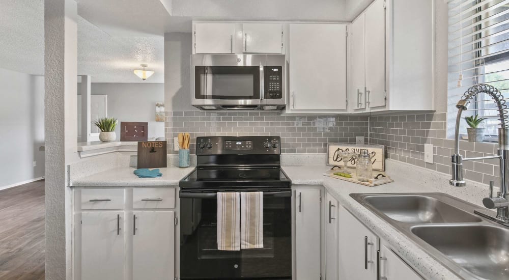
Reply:
<svg viewBox="0 0 509 280"><path fill-rule="evenodd" d="M168 154L174 151L173 138L191 134L191 153L198 136L269 135L281 137L282 153L325 153L327 143L355 143L356 136L367 142L365 116L281 116L279 112L166 111Z"/></svg>

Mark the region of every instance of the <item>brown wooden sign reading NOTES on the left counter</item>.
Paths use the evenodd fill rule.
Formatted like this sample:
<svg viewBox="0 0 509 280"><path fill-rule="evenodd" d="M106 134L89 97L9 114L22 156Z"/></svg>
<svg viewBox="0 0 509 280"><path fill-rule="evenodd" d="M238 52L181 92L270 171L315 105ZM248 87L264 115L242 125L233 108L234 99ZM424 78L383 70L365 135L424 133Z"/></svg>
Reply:
<svg viewBox="0 0 509 280"><path fill-rule="evenodd" d="M166 162L166 141L138 142L137 168L162 168Z"/></svg>

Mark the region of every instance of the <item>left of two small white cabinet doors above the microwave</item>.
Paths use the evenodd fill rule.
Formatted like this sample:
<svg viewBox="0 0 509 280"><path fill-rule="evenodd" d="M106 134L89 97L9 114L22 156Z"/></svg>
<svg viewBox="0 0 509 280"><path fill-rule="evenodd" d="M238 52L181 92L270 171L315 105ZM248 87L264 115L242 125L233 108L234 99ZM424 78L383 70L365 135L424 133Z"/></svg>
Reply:
<svg viewBox="0 0 509 280"><path fill-rule="evenodd" d="M233 53L234 23L195 23L195 53Z"/></svg>

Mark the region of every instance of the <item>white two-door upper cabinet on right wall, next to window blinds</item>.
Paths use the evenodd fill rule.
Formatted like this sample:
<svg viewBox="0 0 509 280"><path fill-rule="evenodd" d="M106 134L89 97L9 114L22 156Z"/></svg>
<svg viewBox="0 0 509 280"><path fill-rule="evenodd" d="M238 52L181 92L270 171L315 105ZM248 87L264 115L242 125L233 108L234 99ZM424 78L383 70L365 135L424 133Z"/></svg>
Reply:
<svg viewBox="0 0 509 280"><path fill-rule="evenodd" d="M350 33L353 113L434 109L433 1L375 0Z"/></svg>

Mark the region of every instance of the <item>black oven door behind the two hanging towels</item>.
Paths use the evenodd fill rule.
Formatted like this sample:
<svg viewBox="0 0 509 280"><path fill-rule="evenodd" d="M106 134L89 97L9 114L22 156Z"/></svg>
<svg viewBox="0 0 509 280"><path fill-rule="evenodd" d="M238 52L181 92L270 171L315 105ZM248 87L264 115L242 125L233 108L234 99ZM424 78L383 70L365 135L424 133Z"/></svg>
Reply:
<svg viewBox="0 0 509 280"><path fill-rule="evenodd" d="M264 248L217 249L217 202L181 201L180 269L182 279L291 279L291 198L264 197Z"/></svg>

